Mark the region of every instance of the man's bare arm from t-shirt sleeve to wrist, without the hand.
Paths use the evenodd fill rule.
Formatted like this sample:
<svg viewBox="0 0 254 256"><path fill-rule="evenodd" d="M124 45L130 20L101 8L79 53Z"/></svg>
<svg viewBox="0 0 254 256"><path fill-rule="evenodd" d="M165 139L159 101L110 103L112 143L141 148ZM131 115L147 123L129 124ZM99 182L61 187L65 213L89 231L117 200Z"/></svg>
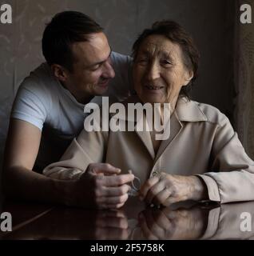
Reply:
<svg viewBox="0 0 254 256"><path fill-rule="evenodd" d="M38 127L10 119L6 140L2 186L7 198L65 203L66 182L46 178L32 171L42 132Z"/></svg>

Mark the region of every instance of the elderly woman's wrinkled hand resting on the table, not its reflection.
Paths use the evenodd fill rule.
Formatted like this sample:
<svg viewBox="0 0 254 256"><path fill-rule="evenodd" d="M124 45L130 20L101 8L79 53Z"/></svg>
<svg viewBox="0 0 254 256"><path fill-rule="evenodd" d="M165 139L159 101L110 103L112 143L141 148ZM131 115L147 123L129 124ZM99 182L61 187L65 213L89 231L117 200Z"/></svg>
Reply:
<svg viewBox="0 0 254 256"><path fill-rule="evenodd" d="M207 188L196 176L161 173L160 177L149 178L140 190L141 200L157 206L169 206L185 200L208 199Z"/></svg>

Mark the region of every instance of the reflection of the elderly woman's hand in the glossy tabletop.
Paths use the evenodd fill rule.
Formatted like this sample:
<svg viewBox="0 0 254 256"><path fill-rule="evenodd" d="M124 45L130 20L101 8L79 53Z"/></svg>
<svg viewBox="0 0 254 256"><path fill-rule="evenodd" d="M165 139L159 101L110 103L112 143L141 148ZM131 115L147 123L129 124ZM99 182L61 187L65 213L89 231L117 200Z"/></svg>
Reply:
<svg viewBox="0 0 254 256"><path fill-rule="evenodd" d="M150 208L139 214L139 225L146 239L198 239L207 228L208 210Z"/></svg>

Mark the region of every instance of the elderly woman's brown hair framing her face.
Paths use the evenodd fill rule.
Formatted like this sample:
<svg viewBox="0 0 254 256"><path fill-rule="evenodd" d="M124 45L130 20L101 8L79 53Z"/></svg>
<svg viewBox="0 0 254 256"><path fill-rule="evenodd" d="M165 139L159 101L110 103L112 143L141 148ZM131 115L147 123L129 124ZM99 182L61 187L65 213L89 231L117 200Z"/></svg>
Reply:
<svg viewBox="0 0 254 256"><path fill-rule="evenodd" d="M141 43L145 41L150 35L159 34L166 38L169 38L171 42L177 43L181 47L183 53L183 62L188 70L192 70L193 78L189 82L188 86L183 86L180 91L180 95L184 95L190 98L190 91L192 89L193 83L197 78L198 62L200 54L196 49L196 46L192 40L192 37L180 26L177 22L171 20L164 20L161 22L153 23L151 29L144 30L137 38L136 42L133 44L133 58L134 61L137 58L137 53Z"/></svg>

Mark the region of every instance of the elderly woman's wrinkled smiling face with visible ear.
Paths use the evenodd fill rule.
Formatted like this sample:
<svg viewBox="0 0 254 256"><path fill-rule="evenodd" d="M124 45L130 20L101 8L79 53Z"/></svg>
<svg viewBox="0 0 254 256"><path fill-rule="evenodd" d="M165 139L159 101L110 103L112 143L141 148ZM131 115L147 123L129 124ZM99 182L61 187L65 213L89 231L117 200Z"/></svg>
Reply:
<svg viewBox="0 0 254 256"><path fill-rule="evenodd" d="M162 35L150 35L139 47L133 81L142 102L173 103L192 78L185 68L181 47Z"/></svg>

